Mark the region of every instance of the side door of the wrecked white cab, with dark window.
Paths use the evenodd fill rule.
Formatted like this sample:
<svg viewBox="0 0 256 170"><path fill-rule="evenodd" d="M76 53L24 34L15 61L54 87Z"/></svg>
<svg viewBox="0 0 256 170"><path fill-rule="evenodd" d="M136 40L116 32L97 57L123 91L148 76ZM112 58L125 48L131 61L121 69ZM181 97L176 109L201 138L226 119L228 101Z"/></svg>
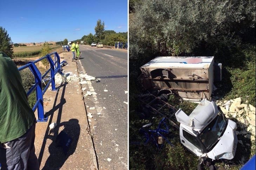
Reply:
<svg viewBox="0 0 256 170"><path fill-rule="evenodd" d="M204 154L201 144L197 141L196 137L182 127L180 127L180 140L194 155L201 156Z"/></svg>

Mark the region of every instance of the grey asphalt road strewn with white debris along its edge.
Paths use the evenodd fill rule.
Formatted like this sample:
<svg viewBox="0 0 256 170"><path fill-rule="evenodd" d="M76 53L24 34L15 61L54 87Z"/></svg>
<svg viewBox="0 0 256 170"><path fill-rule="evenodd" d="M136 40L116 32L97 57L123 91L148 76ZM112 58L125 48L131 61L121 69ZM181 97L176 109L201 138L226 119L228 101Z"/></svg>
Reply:
<svg viewBox="0 0 256 170"><path fill-rule="evenodd" d="M87 113L93 115L88 119L99 169L127 169L127 52L82 45L80 51L77 63L100 79L88 85L97 95L85 97ZM90 110L93 105L96 109Z"/></svg>

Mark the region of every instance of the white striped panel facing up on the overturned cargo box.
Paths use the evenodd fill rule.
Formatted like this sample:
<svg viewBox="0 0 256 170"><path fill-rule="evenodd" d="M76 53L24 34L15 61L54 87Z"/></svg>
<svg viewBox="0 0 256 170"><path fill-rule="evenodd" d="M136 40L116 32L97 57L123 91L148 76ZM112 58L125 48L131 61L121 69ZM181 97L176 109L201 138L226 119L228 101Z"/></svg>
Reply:
<svg viewBox="0 0 256 170"><path fill-rule="evenodd" d="M214 56L196 56L196 57L181 57L181 56L160 56L156 57L142 68L173 68L173 67L188 67L188 68L207 68L214 61Z"/></svg>

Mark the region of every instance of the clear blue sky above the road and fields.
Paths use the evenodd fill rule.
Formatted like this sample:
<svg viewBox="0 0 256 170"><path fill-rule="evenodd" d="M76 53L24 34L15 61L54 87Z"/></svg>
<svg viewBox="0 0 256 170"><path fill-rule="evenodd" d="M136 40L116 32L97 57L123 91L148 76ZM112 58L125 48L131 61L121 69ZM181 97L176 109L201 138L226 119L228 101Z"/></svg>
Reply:
<svg viewBox="0 0 256 170"><path fill-rule="evenodd" d="M95 34L97 20L105 30L127 32L127 0L0 0L0 26L13 43L69 41Z"/></svg>

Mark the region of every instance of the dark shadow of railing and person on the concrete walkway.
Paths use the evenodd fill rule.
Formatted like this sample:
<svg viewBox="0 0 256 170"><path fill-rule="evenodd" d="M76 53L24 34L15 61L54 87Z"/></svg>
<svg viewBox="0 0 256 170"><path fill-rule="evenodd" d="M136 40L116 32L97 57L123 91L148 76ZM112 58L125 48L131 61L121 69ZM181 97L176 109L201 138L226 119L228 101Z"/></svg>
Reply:
<svg viewBox="0 0 256 170"><path fill-rule="evenodd" d="M44 140L42 143L42 147L38 156L38 162L39 162L39 166L41 165L42 162L42 157L43 157L43 153L45 151L45 147L46 147L46 141L47 139L52 140L52 143L49 146L49 152L50 152L50 156L47 158L47 161L45 163L45 166L43 167L43 169L59 169L61 168L61 166L65 163L65 161L67 160L67 158L72 155L76 149L76 145L78 143L78 138L80 136L80 125L78 124L78 120L77 119L70 119L67 122L62 122L61 121L61 115L62 115L62 108L63 105L66 103L66 100L64 98L65 95L65 90L66 90L66 85L68 83L65 82L63 84L61 84L58 87L58 91L56 92L56 96L55 96L55 100L54 100L54 104L53 104L53 108L51 110L49 110L47 112L47 116L50 116L50 118L48 119L48 126L45 132L45 136L44 136ZM62 90L62 94L61 94L61 99L60 99L60 103L56 105L57 99L58 99L58 95L59 95L59 88L63 87ZM59 110L58 110L59 109ZM57 126L54 129L49 129L49 125L52 123L53 120L53 115L54 112L58 110L58 115L57 115ZM68 134L68 136L70 136L72 138L72 143L69 147L69 150L67 152L67 155L65 155L63 153L63 150L61 147L56 148L56 144L55 144L55 140L56 137L58 135L59 132L59 128L61 126L64 126L63 131L66 132ZM53 134L53 135L51 135Z"/></svg>

